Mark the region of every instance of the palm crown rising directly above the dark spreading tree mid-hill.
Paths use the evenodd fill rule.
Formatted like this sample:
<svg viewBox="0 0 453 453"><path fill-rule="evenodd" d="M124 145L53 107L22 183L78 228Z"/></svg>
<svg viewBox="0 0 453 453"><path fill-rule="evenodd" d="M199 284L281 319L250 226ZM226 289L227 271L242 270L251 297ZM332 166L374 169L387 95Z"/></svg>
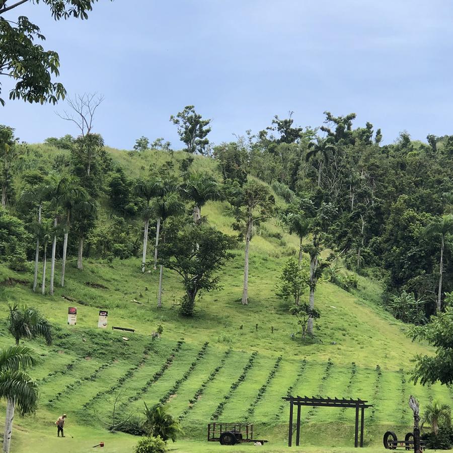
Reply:
<svg viewBox="0 0 453 453"><path fill-rule="evenodd" d="M183 186L183 193L194 202L193 221L201 218L201 208L209 200L220 198L221 190L217 181L207 173L193 173Z"/></svg>

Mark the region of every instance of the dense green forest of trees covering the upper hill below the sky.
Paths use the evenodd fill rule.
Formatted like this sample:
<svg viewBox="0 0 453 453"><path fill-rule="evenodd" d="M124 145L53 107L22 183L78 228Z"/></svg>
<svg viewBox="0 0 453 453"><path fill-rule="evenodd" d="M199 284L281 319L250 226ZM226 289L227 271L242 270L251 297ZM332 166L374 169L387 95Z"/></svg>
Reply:
<svg viewBox="0 0 453 453"><path fill-rule="evenodd" d="M89 103L94 98L80 99ZM174 258L190 250L181 249L187 237L178 239L177 230L188 224L189 215L195 224L205 223L203 204L222 199L229 201L236 218L233 226L245 242L246 261L260 220L275 216L282 228L299 237L299 264L302 252L310 257L311 299L322 272L330 266L333 274L340 259L347 268L385 283L384 303L396 317L423 324L448 303L453 290L453 136L428 135L426 144L402 132L393 144L382 145L381 129L374 131L368 122L354 127L355 114L325 115L319 128L304 128L294 124L290 112L284 119L275 116L255 134L248 131L236 141L212 145L207 138L210 121L187 106L171 118L186 144L185 158L175 159L170 143L162 138L150 148L144 136L136 140L134 150L125 152L160 149L168 154L139 180L130 179L113 162L102 136L83 119L78 137L50 137L47 147L20 142L14 128L2 126L2 260L14 269L25 269L36 260L35 290L38 257L50 260L52 293L55 260L62 261L61 285L68 256L78 256L78 267L83 268L84 257L141 255L144 272L149 239L156 249L152 265L159 261L184 277L188 269L184 263L183 268L175 267ZM194 154L213 160L217 176L197 168ZM283 204L275 204L272 191ZM204 236L214 233L203 231ZM219 261L210 269L198 269L205 277L201 287L205 284L208 290L216 285L212 274L228 259L226 249L233 247L233 238L217 239L226 241L211 251ZM200 240L195 240L197 250ZM321 260L323 250L331 253ZM243 303L247 263L246 268ZM43 294L46 279L40 277ZM201 287L191 292L190 278L186 280L190 315Z"/></svg>

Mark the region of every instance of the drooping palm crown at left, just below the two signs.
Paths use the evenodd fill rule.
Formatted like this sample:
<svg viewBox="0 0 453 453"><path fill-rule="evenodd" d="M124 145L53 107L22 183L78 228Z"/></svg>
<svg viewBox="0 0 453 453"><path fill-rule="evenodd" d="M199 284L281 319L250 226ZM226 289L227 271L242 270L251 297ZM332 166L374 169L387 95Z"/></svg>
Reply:
<svg viewBox="0 0 453 453"><path fill-rule="evenodd" d="M19 307L18 304L10 305L8 317L8 330L19 344L21 338L43 337L48 346L52 344L52 328L50 323L38 310L33 307Z"/></svg>

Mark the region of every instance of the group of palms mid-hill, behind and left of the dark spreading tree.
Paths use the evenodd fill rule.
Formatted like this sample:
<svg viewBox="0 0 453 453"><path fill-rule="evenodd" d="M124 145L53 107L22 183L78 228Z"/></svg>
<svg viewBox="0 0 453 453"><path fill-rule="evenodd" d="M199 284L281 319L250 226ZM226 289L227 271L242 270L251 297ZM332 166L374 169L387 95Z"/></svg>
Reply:
<svg viewBox="0 0 453 453"><path fill-rule="evenodd" d="M141 211L144 223L141 272L146 271L150 219L156 221L153 267L157 269L159 242L165 242L166 220L169 217L181 215L185 209L184 200L187 200L193 203L193 221L197 223L201 219L201 207L209 200L218 199L220 193L220 185L211 175L205 173L190 174L183 183L179 183L172 177L155 175L146 179L139 179L135 184L135 194L144 201L144 207ZM164 267L160 265L158 307L162 307L163 273Z"/></svg>

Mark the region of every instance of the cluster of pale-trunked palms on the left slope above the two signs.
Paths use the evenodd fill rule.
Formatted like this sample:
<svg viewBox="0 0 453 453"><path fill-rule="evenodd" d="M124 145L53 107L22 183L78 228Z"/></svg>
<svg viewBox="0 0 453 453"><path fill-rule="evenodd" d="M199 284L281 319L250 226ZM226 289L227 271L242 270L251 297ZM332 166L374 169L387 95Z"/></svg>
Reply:
<svg viewBox="0 0 453 453"><path fill-rule="evenodd" d="M51 249L49 293L54 292L55 257L57 237L63 234L63 250L61 260L61 286L64 286L66 269L68 235L74 217L85 216L96 211L96 201L90 197L78 178L71 175L50 175L39 184L32 184L21 194L21 201L32 205L36 212L34 233L36 237L36 252L33 291L38 286L39 255L42 249L42 279L41 293L46 291L47 250ZM43 216L47 214L47 218ZM78 268L82 269L81 255L83 253L83 234L79 235Z"/></svg>

